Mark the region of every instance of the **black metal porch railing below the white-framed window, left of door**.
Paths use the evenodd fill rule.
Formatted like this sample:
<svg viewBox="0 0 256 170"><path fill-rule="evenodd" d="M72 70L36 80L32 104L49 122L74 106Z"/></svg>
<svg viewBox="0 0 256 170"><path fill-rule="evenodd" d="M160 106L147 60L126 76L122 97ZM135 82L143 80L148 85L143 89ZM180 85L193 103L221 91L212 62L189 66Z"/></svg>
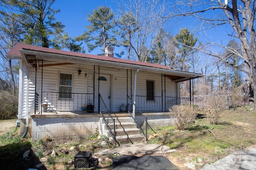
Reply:
<svg viewBox="0 0 256 170"><path fill-rule="evenodd" d="M92 93L42 93L42 104L47 105L47 111L84 111L82 106L86 107L92 102Z"/></svg>

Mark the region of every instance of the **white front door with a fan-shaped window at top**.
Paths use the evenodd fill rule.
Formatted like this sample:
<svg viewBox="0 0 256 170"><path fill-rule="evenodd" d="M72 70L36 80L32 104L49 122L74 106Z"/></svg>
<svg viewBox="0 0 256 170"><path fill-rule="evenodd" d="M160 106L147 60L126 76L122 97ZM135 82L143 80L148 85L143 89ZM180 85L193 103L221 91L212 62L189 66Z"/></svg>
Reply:
<svg viewBox="0 0 256 170"><path fill-rule="evenodd" d="M100 74L100 78L98 80L98 78L96 79L95 83L96 83L96 87L98 87L98 81L100 81L100 89L99 89L99 94L102 97L104 103L106 104L106 106L108 107L108 111L110 111L110 100L111 100L111 93L110 93L110 79L111 76L107 75L107 74ZM98 91L98 90L97 90ZM96 101L95 103L98 103L98 95L96 95ZM96 107L96 109L98 110L98 107Z"/></svg>

